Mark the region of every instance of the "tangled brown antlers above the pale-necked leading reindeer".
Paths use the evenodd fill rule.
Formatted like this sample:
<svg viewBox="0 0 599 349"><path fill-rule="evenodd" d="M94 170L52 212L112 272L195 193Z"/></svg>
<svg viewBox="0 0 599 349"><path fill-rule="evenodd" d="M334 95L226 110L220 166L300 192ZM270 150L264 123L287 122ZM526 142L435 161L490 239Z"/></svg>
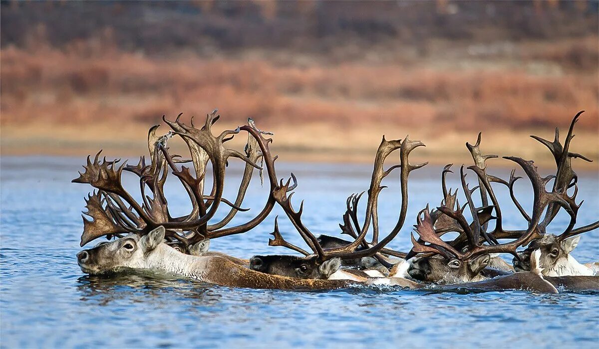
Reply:
<svg viewBox="0 0 599 349"><path fill-rule="evenodd" d="M238 226L225 227L238 211L247 211L240 206L252 178L253 169L259 169L262 176L262 167L257 165L258 160L262 159L265 163L271 193L277 186L274 171L276 157L271 156L268 148L272 139L265 139L262 136L262 134L272 133L259 130L253 120L249 119L248 125L235 130L226 130L215 136L211 128L219 119L216 112L214 110L208 114L204 125L199 129L193 126L193 119L191 125L181 122L181 114L174 121L163 117L164 122L173 131L159 136L156 134L158 125L150 128L148 147L151 163L149 165L146 164L144 157L141 157L135 166L123 163L119 167L116 166L119 160L107 161L105 158L99 160L99 153L93 162L88 157L87 165L84 166L85 171L80 172L80 176L73 180L75 183L91 184L98 189L97 193L90 195L86 200L86 214L93 220L84 218L81 245L104 235L110 237L126 232L143 235L155 227L164 226L168 241L186 246L203 238L247 232L261 223L274 207L275 201L272 195L256 217ZM224 146L225 142L241 131L248 134L245 154ZM167 141L175 135L186 142L191 159L181 159L180 156L169 153ZM223 198L225 169L228 160L232 157L246 163L235 202ZM185 166L179 168L179 164L189 162L193 163L195 174ZM210 194L205 195L204 178L208 162L211 163L213 186ZM132 172L140 178L141 203L135 201L123 188L121 183L123 170ZM192 210L186 216L171 217L168 211L164 184L170 171L179 179L192 202ZM150 189L152 197L146 195L146 188ZM217 223L208 224L221 203L230 207L229 213Z"/></svg>

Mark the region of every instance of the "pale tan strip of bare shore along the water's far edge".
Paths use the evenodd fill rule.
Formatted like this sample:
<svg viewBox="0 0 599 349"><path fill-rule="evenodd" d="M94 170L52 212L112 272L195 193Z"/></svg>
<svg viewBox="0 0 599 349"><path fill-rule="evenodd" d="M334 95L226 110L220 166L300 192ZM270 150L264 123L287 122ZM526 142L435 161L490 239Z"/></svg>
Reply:
<svg viewBox="0 0 599 349"><path fill-rule="evenodd" d="M564 122L567 120L564 120ZM197 123L197 122L196 122ZM148 124L149 125L149 124ZM107 157L131 157L148 153L146 136L148 125L100 123L96 125L47 125L29 124L22 126L2 126L0 132L0 154L2 156L49 155L84 157L102 150ZM219 122L215 132L235 129L243 124ZM362 128L332 128L327 124L302 125L297 131L292 125L270 126L256 120L259 128L274 132L271 151L285 162L329 162L329 163L371 163L382 135L386 139L402 139L406 134L410 139L422 141L426 147L415 150L412 162L428 161L431 165L446 163L470 163L471 157L465 142L476 142L474 131L431 131L412 130L401 125L377 125ZM567 126L567 124L565 124ZM561 139L567 128L562 126ZM159 133L167 132L168 126L162 125ZM585 171L599 169L599 135L597 132L574 132L571 151L581 153L593 160L592 163L574 160L574 168ZM549 151L529 135L539 135L553 139L553 131L499 129L482 133L481 149L483 154L499 156L520 156L532 159L540 168L555 166ZM240 135L231 142L231 146L243 149L245 136ZM186 147L181 142L169 144L173 150L184 154ZM512 167L508 160L492 160L493 166Z"/></svg>

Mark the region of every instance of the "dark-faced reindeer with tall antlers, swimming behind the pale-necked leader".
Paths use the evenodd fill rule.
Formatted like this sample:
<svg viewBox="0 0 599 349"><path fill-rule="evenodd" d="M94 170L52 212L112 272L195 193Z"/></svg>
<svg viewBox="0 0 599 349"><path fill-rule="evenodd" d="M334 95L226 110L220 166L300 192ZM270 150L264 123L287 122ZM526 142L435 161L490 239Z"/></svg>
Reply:
<svg viewBox="0 0 599 349"><path fill-rule="evenodd" d="M308 230L308 228L302 223L301 215L303 202L300 205L298 211L295 211L291 205L291 195L288 195L289 190L286 187L289 186L292 178L284 186L282 183L277 190L273 193L277 203L283 208L289 220L294 224L295 229L299 232L302 239L310 247L312 253L299 248L295 245L285 241L281 236L277 222L275 223L275 229L272 235L274 239L270 239L268 242L271 246L283 246L290 248L294 251L298 251L304 254L305 257L297 256L254 256L250 259L250 268L256 271L265 272L267 274L286 275L298 278L343 278L349 280L364 281L368 278L367 273L359 273L355 271L340 271L336 273L337 269L341 265L341 260L358 260L364 259L365 257L375 257L379 261L385 261L385 257L382 254L388 254L393 256L403 257L405 254L398 253L397 251L388 250L385 245L388 244L398 232L406 219L407 203L408 203L408 187L407 181L410 172L415 169L421 168L426 165L422 163L419 165L412 165L409 163L408 157L412 150L417 147L423 146L422 142L411 141L407 136L401 140L387 141L384 137L377 150L374 169L370 182L370 189L368 189L368 202L362 226L358 223L357 218L357 207L360 196L350 196L347 200L346 214L344 214L344 224L340 224L341 229L344 233L352 236L354 240L348 244L341 244L336 247L323 248L321 241ZM383 164L386 157L389 156L393 151L400 150L400 165L391 166L391 168L385 170ZM398 217L397 224L394 229L388 233L381 241L379 241L379 221L377 213L378 197L381 190L384 188L380 185L383 178L388 176L394 169L401 169L400 183L401 183L401 209ZM372 240L370 242L365 241L365 236L370 229L370 224L373 226ZM356 230L354 230L354 228ZM340 260L338 260L340 259ZM391 265L390 265L391 266ZM384 276L384 275L377 275Z"/></svg>

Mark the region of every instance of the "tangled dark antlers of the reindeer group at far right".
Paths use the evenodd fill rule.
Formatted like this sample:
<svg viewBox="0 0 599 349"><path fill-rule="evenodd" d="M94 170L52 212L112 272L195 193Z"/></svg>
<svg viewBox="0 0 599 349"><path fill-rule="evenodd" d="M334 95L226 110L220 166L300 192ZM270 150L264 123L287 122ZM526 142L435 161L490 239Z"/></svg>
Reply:
<svg viewBox="0 0 599 349"><path fill-rule="evenodd" d="M578 192L577 175L571 169L571 159L574 157L580 157L581 159L591 161L580 154L570 153L568 151L570 141L573 138L572 132L574 124L577 122L577 119L581 113L576 114L574 117L563 146L559 142L558 129L556 129L555 140L553 142L546 141L545 139L537 136L532 136L534 139L537 139L546 145L550 151L552 151L552 154L555 157L556 165L558 166L556 175L541 177L537 171L537 167L534 166L532 161L524 160L520 157L504 157L504 159L512 160L513 162L518 163L518 165L524 170L533 186L534 199L533 211L531 215L529 215L524 208L522 208L522 205L519 203L518 199L516 199L514 186L516 181L521 177L516 177L515 171L512 171L510 174L509 181L504 181L501 178L487 174L485 160L497 156L483 156L480 153L479 133L475 145L467 144L468 150L470 150L475 163L474 166L469 166L468 169L477 175L479 186L470 189L466 182L464 166L462 165L460 169L462 189L464 190L464 194L467 199L467 204L465 206L470 208L470 213L473 217L472 222L469 224L464 217L463 211L465 206L460 207L458 204L456 208L453 208L453 202L450 202L449 205L443 205L443 202L441 202L441 207L438 207L438 211L434 211L432 214L428 213L427 207L419 214L418 224L416 225L416 232L418 232L419 238L416 239L412 237L412 243L414 247L408 254L407 258L412 257L417 253L436 253L441 254L446 258L455 257L461 260L470 259L471 257L483 253L510 253L519 258L518 254L516 254L516 248L521 245L526 245L531 240L542 236L546 232L547 225L561 209L566 211L566 213L568 213L570 216L570 223L564 229L564 232L558 236L559 239L565 239L570 236L587 232L589 230L597 229L599 227L599 221L578 229L574 229L574 225L576 224L576 215L580 206L582 205L582 202L579 204L576 203L576 195ZM445 184L445 175L449 172L449 166L446 166L441 175L443 195L446 197L446 201L451 195L451 192L447 192ZM553 179L555 179L553 182L553 188L551 191L547 191L546 186ZM504 229L503 214L491 183L504 184L509 188L510 198L512 198L516 208L518 208L518 211L528 223L527 229ZM567 189L571 187L574 187L574 192L572 195L568 195ZM481 194L482 207L476 207L472 199L472 195L477 189ZM490 203L488 198L491 199ZM547 210L547 213L545 214L544 219L541 221L541 216L543 215L544 210ZM495 211L495 217L491 215L492 211ZM420 216L423 216L423 218L420 218ZM460 232L458 238L451 242L444 242L440 239L440 236L443 234L445 229L443 229L441 224L438 224L439 226L435 224L435 221L443 221L443 217L452 218L459 226L459 229L456 229L456 227L452 226L452 224L447 224L449 226L447 230ZM495 223L495 228L492 230L492 232L486 232L486 223L491 219L497 220ZM485 245L484 242L481 243L480 236L485 237L485 242L489 245ZM504 244L498 244L497 239L514 240ZM465 246L462 245L464 242L467 243ZM465 249L462 250L462 247L465 247Z"/></svg>

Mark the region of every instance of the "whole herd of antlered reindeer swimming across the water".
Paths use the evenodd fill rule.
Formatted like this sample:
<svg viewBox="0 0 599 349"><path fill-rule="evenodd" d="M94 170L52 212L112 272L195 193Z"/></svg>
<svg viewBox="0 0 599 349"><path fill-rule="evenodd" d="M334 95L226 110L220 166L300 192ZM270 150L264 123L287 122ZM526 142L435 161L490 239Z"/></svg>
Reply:
<svg viewBox="0 0 599 349"><path fill-rule="evenodd" d="M196 128L163 117L171 131L158 135L158 125L150 128L150 156L141 157L137 165L119 160L87 158L84 172L73 180L87 183L96 190L86 198L81 246L104 236L93 248L77 254L78 265L89 274L107 274L123 269L152 269L195 278L206 283L229 287L258 289L337 289L354 285L388 285L406 289L438 290L528 290L558 293L599 290L598 263L581 264L571 256L580 241L580 234L599 227L599 221L576 226L578 177L571 167L572 159L591 161L571 153L574 124L571 122L563 144L559 130L548 141L532 136L551 151L556 163L555 175L541 177L533 161L506 156L524 171L532 187L532 209L525 210L516 198L515 170L504 180L488 174L486 160L497 157L480 151L480 133L476 144L467 143L474 165L459 168L461 188L447 189L446 177L452 173L447 165L441 173L443 198L432 210L427 206L416 218L412 249L407 253L386 247L397 238L407 218L409 202L408 180L412 171L426 163L410 163L410 153L424 144L410 140L388 141L383 136L374 158L374 168L367 192L350 195L347 210L339 224L349 240L327 235L314 235L302 221L303 202L292 205L297 187L293 174L287 181L279 180L275 170L276 156L270 151L270 132L261 131L250 119L235 130L213 132L216 110L208 114L204 125ZM243 151L225 147L240 133L247 133ZM171 154L167 142L180 137L189 148L189 157ZM386 166L386 159L398 153L400 163ZM234 200L223 198L228 162L237 158L245 164L243 176ZM208 166L210 163L210 166ZM255 171L267 178L268 198L255 216L243 224L231 221L243 208L250 180ZM137 201L122 184L123 171L137 175L141 201ZM385 188L383 179L392 171L400 172L401 204L397 223L388 232L379 231L378 199ZM470 187L467 174L476 183ZM174 175L186 190L192 204L189 214L173 217L164 194L165 183ZM210 190L205 190L205 177L212 176ZM508 230L495 191L505 186L512 204L518 209L524 228ZM465 198L461 205L458 191ZM366 202L359 215L359 201ZM274 219L271 246L286 247L302 256L253 256L249 260L210 251L210 239L249 232L262 223L274 207L282 208L308 250L291 244L279 231ZM226 214L217 215L219 208ZM560 233L549 224L563 211L569 223ZM215 221L215 217L223 217ZM362 217L360 219L359 217ZM413 219L414 217L410 218ZM380 234L379 234L380 233ZM446 235L447 234L447 235ZM368 236L368 238L367 238ZM453 236L447 239L447 236ZM501 256L512 256L512 264Z"/></svg>

